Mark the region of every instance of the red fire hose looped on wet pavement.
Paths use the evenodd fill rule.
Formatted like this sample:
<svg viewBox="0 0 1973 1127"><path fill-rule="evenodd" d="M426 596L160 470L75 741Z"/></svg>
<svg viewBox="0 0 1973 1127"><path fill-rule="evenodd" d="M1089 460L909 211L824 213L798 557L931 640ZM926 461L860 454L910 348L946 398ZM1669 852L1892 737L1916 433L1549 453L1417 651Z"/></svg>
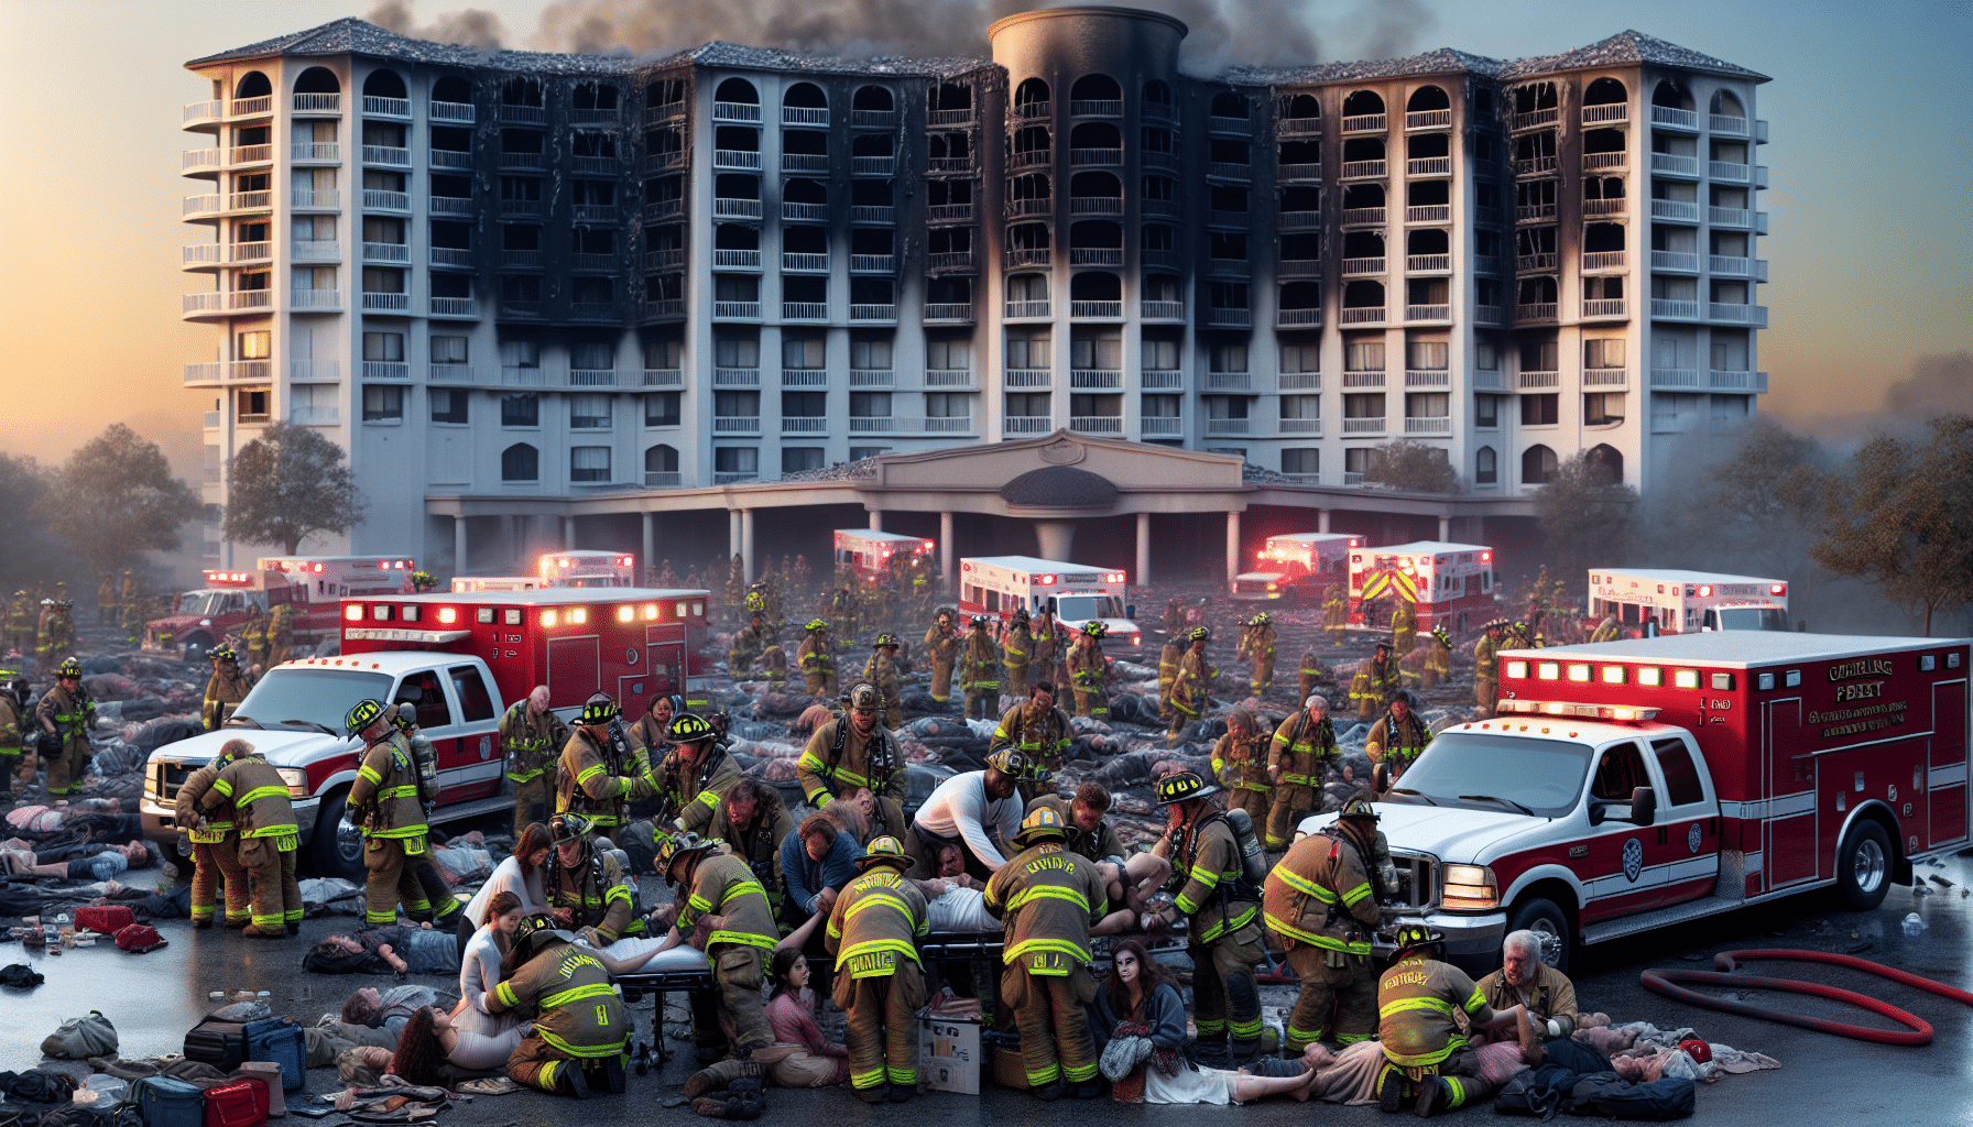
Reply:
<svg viewBox="0 0 1973 1127"><path fill-rule="evenodd" d="M1957 987L1947 987L1945 983L1924 979L1914 973L1900 971L1896 967L1886 967L1884 963L1872 963L1870 959L1859 959L1855 955L1837 955L1829 951L1801 951L1784 947L1768 947L1758 951L1720 951L1718 955L1713 955L1715 969L1711 971L1653 969L1653 971L1644 971L1640 983L1644 985L1644 989L1651 993L1687 1005L1760 1018L1760 1020L1791 1024L1815 1032L1833 1032L1837 1036L1847 1036L1853 1040L1870 1040L1876 1044L1932 1044L1932 1022L1920 1018L1918 1014L1906 1013L1886 1001L1859 995L1855 991L1845 991L1841 987L1829 987L1823 983L1805 983L1801 979L1766 979L1758 975L1734 975L1732 971L1740 959L1797 959L1809 963L1833 963L1837 967L1851 967L1855 971L1866 971L1890 979L1894 983L1904 983L1908 987L1916 987L1920 991L1928 991L1943 999L1953 999L1965 1005L1973 1005L1973 993L1961 991ZM1768 1007L1752 1007L1730 999L1703 995L1699 991L1689 991L1675 983L1813 995L1819 999L1831 999L1866 1009L1906 1028L1902 1030L1870 1028L1819 1016L1791 1014L1791 1013L1772 1011Z"/></svg>

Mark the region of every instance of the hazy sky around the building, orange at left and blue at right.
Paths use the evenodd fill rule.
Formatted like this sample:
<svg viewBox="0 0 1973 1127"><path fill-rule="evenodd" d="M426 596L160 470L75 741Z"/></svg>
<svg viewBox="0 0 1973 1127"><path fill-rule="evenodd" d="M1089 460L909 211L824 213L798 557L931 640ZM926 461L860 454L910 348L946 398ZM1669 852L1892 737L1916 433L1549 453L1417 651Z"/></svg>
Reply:
<svg viewBox="0 0 1973 1127"><path fill-rule="evenodd" d="M618 8L661 12L673 2ZM977 8L923 0L941 2L955 14ZM1257 20L1288 16L1284 0L1233 2ZM422 0L412 14L436 22L464 6ZM543 28L547 0L477 6L517 47L560 45L572 34L568 14L612 8L562 0ZM195 468L183 460L197 452L199 411L213 393L185 391L182 365L209 359L215 332L178 318L180 294L205 288L178 270L178 247L197 241L178 221L180 197L205 184L178 176L180 150L205 140L178 128L180 107L207 93L183 61L371 8L0 2L0 43L10 47L0 67L0 450L61 460L126 420L174 450L182 472ZM1760 367L1772 377L1762 409L1868 413L1918 357L1973 349L1967 0L1344 0L1318 12L1328 57L1357 57L1369 36L1407 53L1450 45L1517 57L1636 28L1770 75L1756 103L1772 122L1772 144L1758 156L1772 172L1760 193L1772 233L1760 241L1772 263L1772 282L1760 288L1770 306ZM1403 18L1393 24L1393 14ZM880 30L860 34L882 45Z"/></svg>

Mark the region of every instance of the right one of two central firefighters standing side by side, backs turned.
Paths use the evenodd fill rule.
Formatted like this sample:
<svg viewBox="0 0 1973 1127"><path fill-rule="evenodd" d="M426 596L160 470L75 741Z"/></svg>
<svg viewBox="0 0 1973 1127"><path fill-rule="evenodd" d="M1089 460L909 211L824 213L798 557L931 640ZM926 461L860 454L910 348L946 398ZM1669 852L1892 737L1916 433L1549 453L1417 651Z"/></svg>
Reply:
<svg viewBox="0 0 1973 1127"><path fill-rule="evenodd" d="M1097 866L1065 839L1052 807L1028 813L1008 843L1020 853L986 882L985 904L1006 926L1000 1003L1014 1011L1028 1088L1038 1099L1095 1099L1103 1084L1083 1005L1097 993L1089 928L1109 914L1109 896Z"/></svg>

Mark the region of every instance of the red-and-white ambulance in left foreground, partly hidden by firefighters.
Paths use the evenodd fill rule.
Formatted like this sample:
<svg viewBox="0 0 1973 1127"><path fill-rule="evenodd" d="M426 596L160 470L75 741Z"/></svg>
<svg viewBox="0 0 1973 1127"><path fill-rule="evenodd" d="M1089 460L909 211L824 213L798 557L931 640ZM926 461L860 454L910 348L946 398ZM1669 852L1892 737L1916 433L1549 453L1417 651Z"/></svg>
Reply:
<svg viewBox="0 0 1973 1127"><path fill-rule="evenodd" d="M341 655L282 661L233 720L166 744L144 766L138 815L154 841L178 835L185 776L247 738L288 782L302 845L322 876L363 880L363 841L343 819L361 746L343 716L365 697L410 703L438 750L432 823L513 809L499 716L535 685L572 716L598 689L635 714L653 695L702 685L704 590L543 588L369 594L339 604Z"/></svg>

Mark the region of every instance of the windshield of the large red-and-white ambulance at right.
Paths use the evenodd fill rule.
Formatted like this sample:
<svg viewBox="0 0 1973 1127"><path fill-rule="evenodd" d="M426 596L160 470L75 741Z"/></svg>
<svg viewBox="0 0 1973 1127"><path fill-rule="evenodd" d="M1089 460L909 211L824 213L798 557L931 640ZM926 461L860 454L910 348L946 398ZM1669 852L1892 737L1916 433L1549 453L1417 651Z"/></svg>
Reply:
<svg viewBox="0 0 1973 1127"><path fill-rule="evenodd" d="M1401 799L1432 799L1436 805L1501 809L1499 801L1462 799L1492 795L1533 809L1539 817L1561 817L1582 797L1590 770L1588 744L1567 740L1523 740L1486 732L1440 732L1399 776L1393 793Z"/></svg>

